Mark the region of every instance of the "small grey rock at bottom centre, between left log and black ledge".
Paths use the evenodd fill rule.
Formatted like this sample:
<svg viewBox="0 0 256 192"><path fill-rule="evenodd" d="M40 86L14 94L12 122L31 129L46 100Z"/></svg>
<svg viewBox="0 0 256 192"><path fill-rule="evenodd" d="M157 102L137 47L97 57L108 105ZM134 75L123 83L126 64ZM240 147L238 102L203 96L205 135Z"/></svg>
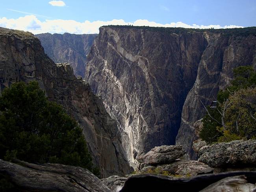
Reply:
<svg viewBox="0 0 256 192"><path fill-rule="evenodd" d="M113 192L121 190L124 182L127 180L126 177L119 177L117 175L111 175L108 178L101 179L101 181L108 186Z"/></svg>

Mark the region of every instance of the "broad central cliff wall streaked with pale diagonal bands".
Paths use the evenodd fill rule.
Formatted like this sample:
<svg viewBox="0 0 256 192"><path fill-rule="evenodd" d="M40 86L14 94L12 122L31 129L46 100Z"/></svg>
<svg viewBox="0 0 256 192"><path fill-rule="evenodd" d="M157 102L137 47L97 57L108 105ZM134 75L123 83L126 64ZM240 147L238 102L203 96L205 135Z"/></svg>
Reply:
<svg viewBox="0 0 256 192"><path fill-rule="evenodd" d="M131 163L154 146L174 144L207 44L198 32L100 28L85 78L117 120Z"/></svg>

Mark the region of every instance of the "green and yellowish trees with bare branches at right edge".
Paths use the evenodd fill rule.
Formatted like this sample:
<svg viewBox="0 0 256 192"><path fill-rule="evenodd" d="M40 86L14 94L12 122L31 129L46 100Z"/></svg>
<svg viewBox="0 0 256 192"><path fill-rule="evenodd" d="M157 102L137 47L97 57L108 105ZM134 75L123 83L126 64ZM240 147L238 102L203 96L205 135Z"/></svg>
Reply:
<svg viewBox="0 0 256 192"><path fill-rule="evenodd" d="M256 72L234 69L234 80L217 95L216 108L206 107L200 137L208 143L256 138Z"/></svg>

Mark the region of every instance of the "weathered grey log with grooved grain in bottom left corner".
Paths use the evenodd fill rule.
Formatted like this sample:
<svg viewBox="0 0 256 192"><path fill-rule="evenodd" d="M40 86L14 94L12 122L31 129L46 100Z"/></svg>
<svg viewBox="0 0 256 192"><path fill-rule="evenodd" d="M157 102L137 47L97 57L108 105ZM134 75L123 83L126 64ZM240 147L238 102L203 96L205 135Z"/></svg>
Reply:
<svg viewBox="0 0 256 192"><path fill-rule="evenodd" d="M19 164L0 159L0 175L22 191L111 192L98 177L80 167L15 162Z"/></svg>

